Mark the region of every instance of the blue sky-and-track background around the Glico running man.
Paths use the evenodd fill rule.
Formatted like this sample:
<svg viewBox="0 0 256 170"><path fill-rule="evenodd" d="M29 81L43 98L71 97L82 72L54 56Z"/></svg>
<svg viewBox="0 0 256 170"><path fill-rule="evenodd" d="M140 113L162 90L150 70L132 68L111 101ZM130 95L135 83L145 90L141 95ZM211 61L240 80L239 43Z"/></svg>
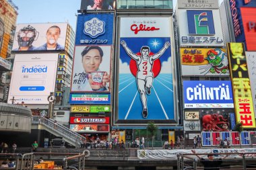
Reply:
<svg viewBox="0 0 256 170"><path fill-rule="evenodd" d="M149 46L150 52L156 54L162 49L165 42L170 42L170 38L120 38L127 46L137 54L141 46ZM129 70L131 57L120 44L119 61L119 97L118 97L118 119L119 120L174 120L173 101L173 80L171 69L170 46L160 56L161 71L154 78L151 87L151 94L146 94L148 105L148 117L143 118L141 112L143 106L140 93L137 89L136 77ZM156 62L156 61L155 61ZM166 67L167 66L167 67ZM170 69L164 69L170 68Z"/></svg>

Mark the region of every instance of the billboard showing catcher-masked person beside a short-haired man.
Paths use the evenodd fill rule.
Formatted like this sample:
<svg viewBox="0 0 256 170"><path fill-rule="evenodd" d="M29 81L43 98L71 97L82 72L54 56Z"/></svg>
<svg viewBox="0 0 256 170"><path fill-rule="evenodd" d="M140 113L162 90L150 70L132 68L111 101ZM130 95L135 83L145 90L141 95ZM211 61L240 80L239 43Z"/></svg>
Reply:
<svg viewBox="0 0 256 170"><path fill-rule="evenodd" d="M66 23L18 24L12 50L65 50L66 34Z"/></svg>

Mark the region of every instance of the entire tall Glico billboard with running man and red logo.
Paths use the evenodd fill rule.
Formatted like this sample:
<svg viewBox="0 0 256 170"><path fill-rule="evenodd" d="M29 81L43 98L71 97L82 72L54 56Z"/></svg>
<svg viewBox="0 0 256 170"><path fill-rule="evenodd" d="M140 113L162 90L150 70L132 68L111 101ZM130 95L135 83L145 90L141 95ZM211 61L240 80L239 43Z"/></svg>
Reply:
<svg viewBox="0 0 256 170"><path fill-rule="evenodd" d="M175 122L170 17L119 19L116 122Z"/></svg>

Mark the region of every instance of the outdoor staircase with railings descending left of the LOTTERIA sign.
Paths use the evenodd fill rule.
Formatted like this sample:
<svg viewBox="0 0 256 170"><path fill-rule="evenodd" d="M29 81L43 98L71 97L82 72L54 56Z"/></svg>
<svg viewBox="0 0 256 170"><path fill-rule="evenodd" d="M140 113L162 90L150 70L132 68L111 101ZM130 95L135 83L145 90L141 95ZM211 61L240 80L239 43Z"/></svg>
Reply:
<svg viewBox="0 0 256 170"><path fill-rule="evenodd" d="M38 128L44 129L55 136L61 136L63 140L69 142L76 148L81 146L82 141L85 140L85 137L73 132L69 128L54 122L54 120L46 119L41 116L32 116L32 124L38 124Z"/></svg>

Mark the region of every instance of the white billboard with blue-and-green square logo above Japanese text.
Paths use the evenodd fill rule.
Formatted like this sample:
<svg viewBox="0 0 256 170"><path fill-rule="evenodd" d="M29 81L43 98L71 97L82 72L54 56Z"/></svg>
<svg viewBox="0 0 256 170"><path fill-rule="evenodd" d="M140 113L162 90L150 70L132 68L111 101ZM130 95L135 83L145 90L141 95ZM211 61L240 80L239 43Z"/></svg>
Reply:
<svg viewBox="0 0 256 170"><path fill-rule="evenodd" d="M181 46L224 46L218 9L179 9Z"/></svg>

